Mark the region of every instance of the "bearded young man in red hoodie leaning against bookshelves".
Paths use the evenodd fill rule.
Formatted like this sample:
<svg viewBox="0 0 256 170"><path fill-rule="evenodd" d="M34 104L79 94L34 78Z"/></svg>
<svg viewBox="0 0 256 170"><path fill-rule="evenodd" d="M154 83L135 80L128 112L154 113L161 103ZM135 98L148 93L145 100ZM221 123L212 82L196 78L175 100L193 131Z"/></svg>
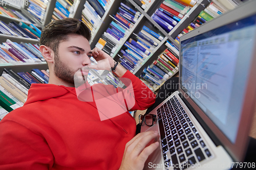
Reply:
<svg viewBox="0 0 256 170"><path fill-rule="evenodd" d="M24 106L0 122L0 169L142 169L157 148L159 142L148 144L158 137L156 132L135 136L136 122L129 112L101 120L95 99L78 100L77 71L104 68L103 60L115 67L109 55L91 50L90 38L88 27L73 18L53 21L42 30L39 50L49 66L49 84L32 84ZM92 66L90 56L101 64ZM118 64L115 74L131 80L133 93L96 84L90 87L93 96L108 94L116 103L121 103L120 94L131 96L135 104L130 110L153 105L154 98L141 95L146 90L153 96L152 91L131 72Z"/></svg>

